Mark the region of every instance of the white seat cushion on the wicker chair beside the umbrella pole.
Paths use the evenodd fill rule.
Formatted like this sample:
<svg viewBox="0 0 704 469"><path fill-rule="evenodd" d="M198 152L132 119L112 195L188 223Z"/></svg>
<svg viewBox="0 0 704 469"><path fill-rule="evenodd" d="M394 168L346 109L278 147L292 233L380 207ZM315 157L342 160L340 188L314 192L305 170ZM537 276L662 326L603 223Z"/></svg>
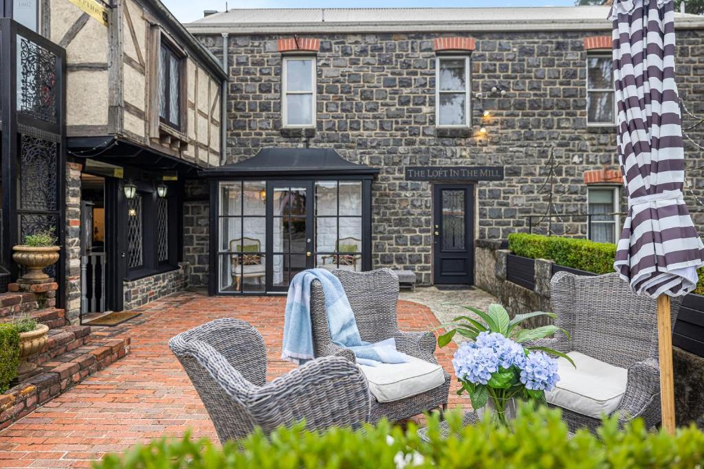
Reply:
<svg viewBox="0 0 704 469"><path fill-rule="evenodd" d="M577 365L558 358L560 381L545 393L548 403L593 418L615 411L628 383L628 370L579 352L567 354Z"/></svg>

